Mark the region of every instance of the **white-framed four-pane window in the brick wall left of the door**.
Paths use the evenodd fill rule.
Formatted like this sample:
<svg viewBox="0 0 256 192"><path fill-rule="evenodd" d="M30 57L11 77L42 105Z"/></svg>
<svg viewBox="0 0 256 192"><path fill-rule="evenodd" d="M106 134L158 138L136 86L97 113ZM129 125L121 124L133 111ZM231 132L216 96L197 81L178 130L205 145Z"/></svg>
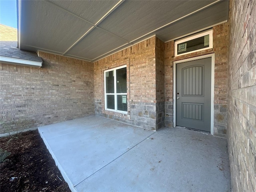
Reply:
<svg viewBox="0 0 256 192"><path fill-rule="evenodd" d="M104 71L105 110L127 114L126 65Z"/></svg>

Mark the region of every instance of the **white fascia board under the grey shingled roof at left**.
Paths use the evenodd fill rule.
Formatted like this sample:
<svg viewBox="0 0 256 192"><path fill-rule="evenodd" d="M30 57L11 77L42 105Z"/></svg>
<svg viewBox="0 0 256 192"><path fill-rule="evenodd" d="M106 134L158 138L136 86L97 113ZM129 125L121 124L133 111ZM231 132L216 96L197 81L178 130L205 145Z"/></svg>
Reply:
<svg viewBox="0 0 256 192"><path fill-rule="evenodd" d="M24 59L18 59L18 58L10 58L10 57L4 57L4 56L0 56L0 62L7 63L7 64L29 66L29 67L42 67L42 62L30 61L30 60L24 60Z"/></svg>

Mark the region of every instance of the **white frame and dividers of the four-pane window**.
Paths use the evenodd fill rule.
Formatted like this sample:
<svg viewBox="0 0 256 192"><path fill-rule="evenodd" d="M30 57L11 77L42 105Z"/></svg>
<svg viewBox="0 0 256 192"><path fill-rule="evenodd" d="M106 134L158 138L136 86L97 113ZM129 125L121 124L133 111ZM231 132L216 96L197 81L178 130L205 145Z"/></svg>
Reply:
<svg viewBox="0 0 256 192"><path fill-rule="evenodd" d="M126 74L127 74L127 66L122 65L116 68L111 68L104 71L104 97L105 97L105 110L112 111L112 112L118 112L122 114L128 114L127 111L120 111L117 110L117 96L118 95L126 95L126 104L127 104L127 82L126 82L126 93L116 93L116 70L122 69L126 67ZM106 93L106 72L113 71L114 72L114 93ZM127 78L126 78L127 81ZM115 102L115 109L108 109L107 108L107 95L114 95L114 102Z"/></svg>

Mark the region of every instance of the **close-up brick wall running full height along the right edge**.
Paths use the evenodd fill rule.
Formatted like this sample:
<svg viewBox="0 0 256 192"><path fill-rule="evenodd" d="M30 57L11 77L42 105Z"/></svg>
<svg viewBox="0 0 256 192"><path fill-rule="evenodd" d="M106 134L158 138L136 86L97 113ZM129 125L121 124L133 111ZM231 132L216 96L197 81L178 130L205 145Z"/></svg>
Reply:
<svg viewBox="0 0 256 192"><path fill-rule="evenodd" d="M230 1L228 151L234 192L256 191L256 1Z"/></svg>

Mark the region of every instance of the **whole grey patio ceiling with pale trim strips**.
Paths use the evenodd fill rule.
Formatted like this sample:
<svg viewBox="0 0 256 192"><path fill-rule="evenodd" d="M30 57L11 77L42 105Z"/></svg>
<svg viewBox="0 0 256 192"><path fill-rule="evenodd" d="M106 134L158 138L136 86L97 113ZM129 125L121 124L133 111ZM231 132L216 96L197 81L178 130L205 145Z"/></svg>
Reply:
<svg viewBox="0 0 256 192"><path fill-rule="evenodd" d="M97 61L156 35L166 42L228 20L227 0L20 0L19 47Z"/></svg>

